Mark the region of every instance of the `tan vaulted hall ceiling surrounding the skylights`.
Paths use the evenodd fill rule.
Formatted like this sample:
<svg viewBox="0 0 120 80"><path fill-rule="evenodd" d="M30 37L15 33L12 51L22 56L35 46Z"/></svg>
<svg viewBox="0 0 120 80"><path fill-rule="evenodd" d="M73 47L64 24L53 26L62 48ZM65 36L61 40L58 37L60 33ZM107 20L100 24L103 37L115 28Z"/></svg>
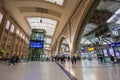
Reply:
<svg viewBox="0 0 120 80"><path fill-rule="evenodd" d="M4 7L9 11L15 21L30 35L31 25L27 18L48 18L57 21L53 35L58 37L61 30L81 0L3 0ZM51 2L49 2L51 1ZM63 1L63 5L62 2ZM58 5L60 3L60 5ZM72 6L71 6L72 5ZM38 21L40 21L39 19ZM35 20L32 20L35 22ZM41 22L41 21L40 21ZM39 22L39 23L40 23ZM48 22L48 21L47 21ZM53 40L52 40L53 41Z"/></svg>

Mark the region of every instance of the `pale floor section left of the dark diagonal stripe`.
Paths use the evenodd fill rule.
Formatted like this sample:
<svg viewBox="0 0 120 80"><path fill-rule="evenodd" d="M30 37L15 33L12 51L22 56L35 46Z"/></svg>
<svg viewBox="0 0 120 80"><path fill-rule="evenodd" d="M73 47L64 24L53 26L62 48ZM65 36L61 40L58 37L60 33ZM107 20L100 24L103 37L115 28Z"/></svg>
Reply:
<svg viewBox="0 0 120 80"><path fill-rule="evenodd" d="M14 66L0 65L0 80L70 80L52 62L28 62Z"/></svg>

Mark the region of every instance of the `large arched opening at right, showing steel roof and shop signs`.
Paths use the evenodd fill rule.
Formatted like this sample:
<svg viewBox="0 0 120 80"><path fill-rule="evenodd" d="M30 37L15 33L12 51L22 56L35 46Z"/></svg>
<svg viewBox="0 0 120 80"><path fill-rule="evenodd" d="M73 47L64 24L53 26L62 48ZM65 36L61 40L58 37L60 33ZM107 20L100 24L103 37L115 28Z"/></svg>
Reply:
<svg viewBox="0 0 120 80"><path fill-rule="evenodd" d="M78 51L81 55L86 53L84 58L91 59L96 54L97 59L102 57L105 63L110 63L110 56L120 60L119 14L120 1L117 0L101 0L95 9L91 9L78 40Z"/></svg>

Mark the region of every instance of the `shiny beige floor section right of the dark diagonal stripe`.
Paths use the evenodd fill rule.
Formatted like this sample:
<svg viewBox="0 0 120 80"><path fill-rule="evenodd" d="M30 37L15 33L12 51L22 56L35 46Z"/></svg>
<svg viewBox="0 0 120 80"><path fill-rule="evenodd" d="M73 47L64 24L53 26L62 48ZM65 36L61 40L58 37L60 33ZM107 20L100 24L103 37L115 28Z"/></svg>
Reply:
<svg viewBox="0 0 120 80"><path fill-rule="evenodd" d="M120 65L99 64L88 60L61 65L78 80L120 80Z"/></svg>

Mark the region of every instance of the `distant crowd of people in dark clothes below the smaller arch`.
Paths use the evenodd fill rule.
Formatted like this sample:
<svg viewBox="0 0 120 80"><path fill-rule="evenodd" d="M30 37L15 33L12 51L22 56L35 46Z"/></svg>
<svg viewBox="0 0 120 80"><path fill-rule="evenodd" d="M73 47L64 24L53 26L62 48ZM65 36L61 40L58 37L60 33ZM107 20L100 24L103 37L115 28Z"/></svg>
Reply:
<svg viewBox="0 0 120 80"><path fill-rule="evenodd" d="M63 64L63 63L65 63L65 62L67 62L67 61L71 61L72 62L72 64L76 64L76 62L77 62L77 60L79 60L80 61L80 57L75 57L75 56L73 56L73 57L69 57L69 56L55 56L55 57L53 57L52 56L52 61L54 62L59 62L59 61L61 61L61 63Z"/></svg>

